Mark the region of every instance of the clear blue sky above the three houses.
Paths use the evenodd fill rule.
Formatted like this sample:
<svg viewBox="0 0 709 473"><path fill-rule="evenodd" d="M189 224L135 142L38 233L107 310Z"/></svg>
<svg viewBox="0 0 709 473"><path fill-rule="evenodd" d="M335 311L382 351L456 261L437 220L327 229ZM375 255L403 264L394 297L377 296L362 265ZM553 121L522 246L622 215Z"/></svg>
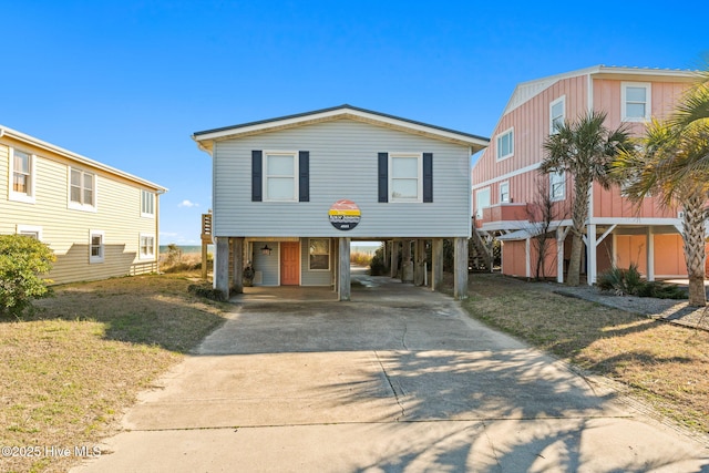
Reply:
<svg viewBox="0 0 709 473"><path fill-rule="evenodd" d="M349 103L490 136L515 84L596 64L695 69L705 2L0 0L0 124L169 188L198 244L192 133Z"/></svg>

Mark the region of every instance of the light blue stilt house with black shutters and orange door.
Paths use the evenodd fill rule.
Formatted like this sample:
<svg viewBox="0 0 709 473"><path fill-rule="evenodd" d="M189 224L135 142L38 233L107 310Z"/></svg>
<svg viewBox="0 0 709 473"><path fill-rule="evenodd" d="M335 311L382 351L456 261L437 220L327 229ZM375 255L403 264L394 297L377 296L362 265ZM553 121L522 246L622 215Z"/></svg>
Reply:
<svg viewBox="0 0 709 473"><path fill-rule="evenodd" d="M246 267L255 285L333 286L349 300L352 240L400 241L407 255L425 239L435 288L450 238L465 297L470 160L486 138L342 105L193 140L213 158L216 288L242 291Z"/></svg>

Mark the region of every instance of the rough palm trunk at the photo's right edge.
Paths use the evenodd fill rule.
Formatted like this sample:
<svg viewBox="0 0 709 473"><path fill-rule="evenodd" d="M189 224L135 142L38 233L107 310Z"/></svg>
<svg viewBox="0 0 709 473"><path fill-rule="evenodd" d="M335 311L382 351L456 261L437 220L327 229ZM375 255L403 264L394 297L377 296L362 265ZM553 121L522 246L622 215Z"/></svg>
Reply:
<svg viewBox="0 0 709 473"><path fill-rule="evenodd" d="M685 260L689 277L689 305L705 307L707 291L705 288L705 212L702 196L692 196L685 202L682 219L685 243Z"/></svg>

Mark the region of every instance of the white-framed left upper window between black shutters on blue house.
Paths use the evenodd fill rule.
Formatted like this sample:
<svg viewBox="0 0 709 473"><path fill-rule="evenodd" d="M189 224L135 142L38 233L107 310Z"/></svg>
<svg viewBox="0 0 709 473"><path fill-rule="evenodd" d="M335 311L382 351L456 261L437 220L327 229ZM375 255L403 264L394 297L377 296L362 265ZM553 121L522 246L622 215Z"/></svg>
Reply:
<svg viewBox="0 0 709 473"><path fill-rule="evenodd" d="M264 152L264 200L298 202L298 153Z"/></svg>

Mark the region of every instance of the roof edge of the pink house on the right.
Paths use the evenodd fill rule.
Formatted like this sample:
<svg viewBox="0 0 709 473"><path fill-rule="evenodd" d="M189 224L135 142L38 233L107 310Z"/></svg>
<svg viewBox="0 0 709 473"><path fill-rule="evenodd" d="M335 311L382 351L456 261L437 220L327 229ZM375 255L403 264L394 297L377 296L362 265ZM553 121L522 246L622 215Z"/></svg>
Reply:
<svg viewBox="0 0 709 473"><path fill-rule="evenodd" d="M598 79L621 78L628 81L672 80L677 82L691 82L697 76L695 71L679 69L628 68L598 64L518 83L502 114L504 115L512 112L558 81L580 75L593 75Z"/></svg>

